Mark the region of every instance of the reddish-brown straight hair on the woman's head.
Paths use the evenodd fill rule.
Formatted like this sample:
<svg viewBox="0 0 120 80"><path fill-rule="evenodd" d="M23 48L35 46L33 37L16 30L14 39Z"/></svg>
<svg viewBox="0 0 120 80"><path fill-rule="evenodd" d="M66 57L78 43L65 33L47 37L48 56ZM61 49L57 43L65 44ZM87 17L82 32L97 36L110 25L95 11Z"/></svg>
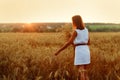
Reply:
<svg viewBox="0 0 120 80"><path fill-rule="evenodd" d="M84 27L85 27L85 24L83 23L80 15L73 16L72 22L77 27L77 29L84 29Z"/></svg>

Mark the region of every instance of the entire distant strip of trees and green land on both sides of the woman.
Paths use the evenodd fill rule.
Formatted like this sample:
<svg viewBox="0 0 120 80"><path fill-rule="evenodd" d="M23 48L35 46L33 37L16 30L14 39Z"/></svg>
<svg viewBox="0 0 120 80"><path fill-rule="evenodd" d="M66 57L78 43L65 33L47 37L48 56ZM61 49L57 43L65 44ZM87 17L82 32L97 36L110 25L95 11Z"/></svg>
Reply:
<svg viewBox="0 0 120 80"><path fill-rule="evenodd" d="M90 32L118 32L120 24L86 23ZM0 24L0 32L70 32L71 23L4 23Z"/></svg>

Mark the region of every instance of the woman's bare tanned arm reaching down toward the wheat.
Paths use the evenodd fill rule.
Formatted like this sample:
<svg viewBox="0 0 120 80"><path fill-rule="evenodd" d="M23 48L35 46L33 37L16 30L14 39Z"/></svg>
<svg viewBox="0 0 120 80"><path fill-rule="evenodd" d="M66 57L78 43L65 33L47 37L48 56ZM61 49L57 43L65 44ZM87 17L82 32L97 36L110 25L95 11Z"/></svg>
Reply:
<svg viewBox="0 0 120 80"><path fill-rule="evenodd" d="M73 34L72 34L72 36L71 36L70 39L68 40L68 42L66 42L66 43L55 53L55 55L58 55L62 50L64 50L64 49L67 48L70 44L72 44L76 36L77 36L77 32L74 31Z"/></svg>

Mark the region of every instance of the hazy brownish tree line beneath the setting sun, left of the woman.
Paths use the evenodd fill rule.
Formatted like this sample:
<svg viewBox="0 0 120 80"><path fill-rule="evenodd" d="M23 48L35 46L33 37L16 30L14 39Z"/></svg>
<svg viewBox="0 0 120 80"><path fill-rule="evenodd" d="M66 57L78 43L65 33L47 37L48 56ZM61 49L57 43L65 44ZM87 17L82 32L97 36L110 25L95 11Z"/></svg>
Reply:
<svg viewBox="0 0 120 80"><path fill-rule="evenodd" d="M56 32L66 23L6 23L0 24L0 32Z"/></svg>

